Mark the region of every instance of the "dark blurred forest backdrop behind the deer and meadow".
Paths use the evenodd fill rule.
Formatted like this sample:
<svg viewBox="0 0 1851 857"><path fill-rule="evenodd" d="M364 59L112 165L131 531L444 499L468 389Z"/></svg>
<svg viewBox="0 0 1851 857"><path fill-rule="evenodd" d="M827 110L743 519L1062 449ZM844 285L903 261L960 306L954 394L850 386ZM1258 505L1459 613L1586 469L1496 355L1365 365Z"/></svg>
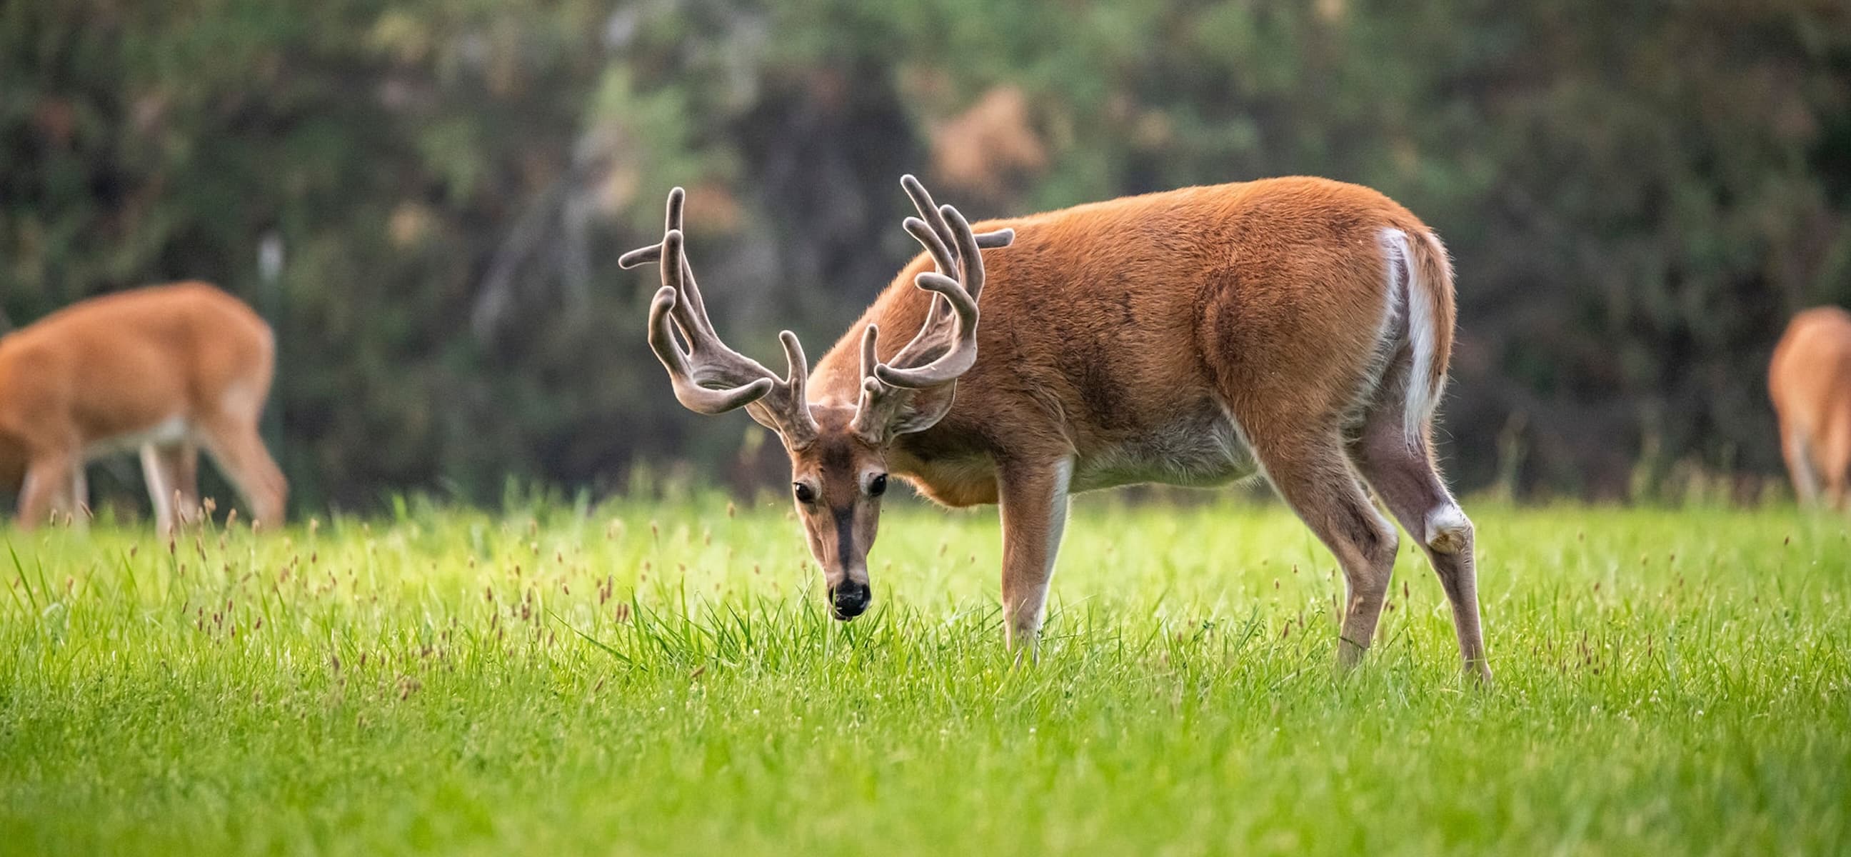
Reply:
<svg viewBox="0 0 1851 857"><path fill-rule="evenodd" d="M616 255L687 185L726 335L814 354L916 250L907 170L974 215L1373 185L1457 259L1462 489L1745 500L1784 320L1851 304L1851 11L0 0L0 309L244 296L302 507L781 479L750 420L676 405Z"/></svg>

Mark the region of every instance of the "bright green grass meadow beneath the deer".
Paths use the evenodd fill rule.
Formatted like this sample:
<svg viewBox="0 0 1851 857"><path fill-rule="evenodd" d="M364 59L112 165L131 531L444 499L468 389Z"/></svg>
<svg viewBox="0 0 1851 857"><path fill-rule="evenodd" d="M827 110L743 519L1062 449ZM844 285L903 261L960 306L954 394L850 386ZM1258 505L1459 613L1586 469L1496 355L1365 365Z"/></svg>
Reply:
<svg viewBox="0 0 1851 857"><path fill-rule="evenodd" d="M994 513L890 509L848 626L724 500L9 531L0 850L1851 848L1842 520L1472 511L1490 690L1409 548L1340 677L1333 561L1270 507L1079 503L1027 668Z"/></svg>

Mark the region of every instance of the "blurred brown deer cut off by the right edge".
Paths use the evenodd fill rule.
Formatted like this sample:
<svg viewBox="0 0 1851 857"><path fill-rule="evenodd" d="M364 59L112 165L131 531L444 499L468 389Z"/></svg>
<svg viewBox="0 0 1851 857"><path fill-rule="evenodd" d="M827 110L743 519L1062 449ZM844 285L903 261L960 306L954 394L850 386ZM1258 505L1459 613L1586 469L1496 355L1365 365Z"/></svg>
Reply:
<svg viewBox="0 0 1851 857"><path fill-rule="evenodd" d="M1807 309L1786 326L1768 365L1781 452L1799 502L1845 507L1851 478L1851 313Z"/></svg>

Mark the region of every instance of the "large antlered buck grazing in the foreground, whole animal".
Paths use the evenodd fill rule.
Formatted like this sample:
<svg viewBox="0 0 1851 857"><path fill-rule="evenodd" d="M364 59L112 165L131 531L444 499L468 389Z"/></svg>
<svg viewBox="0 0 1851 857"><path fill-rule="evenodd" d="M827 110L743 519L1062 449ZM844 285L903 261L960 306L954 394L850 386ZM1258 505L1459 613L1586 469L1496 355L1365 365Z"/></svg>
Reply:
<svg viewBox="0 0 1851 857"><path fill-rule="evenodd" d="M837 618L872 600L890 476L944 505L1001 507L1016 648L1040 627L1070 492L1264 472L1344 568L1340 663L1375 637L1396 559L1366 481L1438 572L1466 670L1490 677L1472 522L1429 441L1453 274L1414 215L1364 187L1281 178L972 228L901 185L926 254L814 372L790 331L783 378L714 333L683 255L681 189L663 242L620 261L661 263L650 346L676 398L744 407L783 437Z"/></svg>

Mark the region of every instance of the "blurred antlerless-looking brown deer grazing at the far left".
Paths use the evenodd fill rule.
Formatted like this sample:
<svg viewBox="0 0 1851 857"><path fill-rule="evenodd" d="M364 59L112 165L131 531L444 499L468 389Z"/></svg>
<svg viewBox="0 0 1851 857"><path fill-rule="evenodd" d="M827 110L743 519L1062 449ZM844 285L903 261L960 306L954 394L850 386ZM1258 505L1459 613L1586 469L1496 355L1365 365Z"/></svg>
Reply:
<svg viewBox="0 0 1851 857"><path fill-rule="evenodd" d="M289 483L257 437L270 394L270 326L205 283L91 298L0 339L0 481L19 526L85 503L89 459L141 450L163 533L198 509L204 446L265 526Z"/></svg>

